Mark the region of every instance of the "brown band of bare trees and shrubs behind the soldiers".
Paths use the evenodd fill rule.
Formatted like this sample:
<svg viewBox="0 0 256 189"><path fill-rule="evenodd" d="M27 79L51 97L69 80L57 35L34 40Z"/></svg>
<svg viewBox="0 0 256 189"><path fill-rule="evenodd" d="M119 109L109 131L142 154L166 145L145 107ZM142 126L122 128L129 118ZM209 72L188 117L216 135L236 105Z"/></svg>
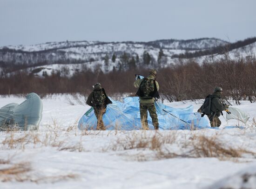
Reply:
<svg viewBox="0 0 256 189"><path fill-rule="evenodd" d="M136 65L136 61L134 63ZM65 71L65 69L63 69ZM148 75L148 68L131 67L103 73L88 69L77 70L71 77L61 71L44 77L26 71L0 75L0 94L26 94L36 92L41 96L51 93L79 92L87 96L92 85L100 82L109 96L117 93L135 94L135 74ZM180 60L175 65L157 70L162 99L169 102L205 98L216 86L223 88L223 95L237 104L241 100L256 102L256 58L229 59L228 57L202 64L193 59Z"/></svg>

